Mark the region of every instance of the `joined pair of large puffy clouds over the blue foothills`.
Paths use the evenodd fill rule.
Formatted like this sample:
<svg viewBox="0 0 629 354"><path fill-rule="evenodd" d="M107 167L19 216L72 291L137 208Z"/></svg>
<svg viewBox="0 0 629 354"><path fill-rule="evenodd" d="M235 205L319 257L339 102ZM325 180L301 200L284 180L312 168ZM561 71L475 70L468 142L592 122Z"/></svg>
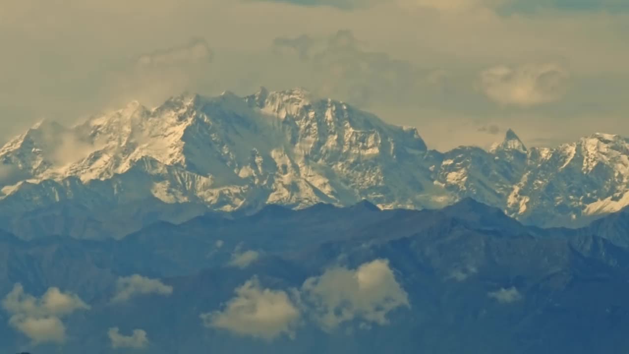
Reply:
<svg viewBox="0 0 629 354"><path fill-rule="evenodd" d="M296 336L301 320L312 320L325 331L358 321L362 327L384 326L387 314L410 307L408 294L397 282L388 260L374 260L355 270L326 270L291 290L263 288L252 278L235 290L222 311L201 314L208 328L273 340Z"/></svg>

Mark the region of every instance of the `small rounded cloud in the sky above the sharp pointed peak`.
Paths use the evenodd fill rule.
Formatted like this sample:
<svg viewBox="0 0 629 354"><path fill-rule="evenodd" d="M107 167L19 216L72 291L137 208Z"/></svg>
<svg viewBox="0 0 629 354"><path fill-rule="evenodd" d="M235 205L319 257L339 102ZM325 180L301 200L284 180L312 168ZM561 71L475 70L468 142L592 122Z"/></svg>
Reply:
<svg viewBox="0 0 629 354"><path fill-rule="evenodd" d="M568 73L557 64L497 66L481 72L484 93L501 105L535 106L560 100Z"/></svg>

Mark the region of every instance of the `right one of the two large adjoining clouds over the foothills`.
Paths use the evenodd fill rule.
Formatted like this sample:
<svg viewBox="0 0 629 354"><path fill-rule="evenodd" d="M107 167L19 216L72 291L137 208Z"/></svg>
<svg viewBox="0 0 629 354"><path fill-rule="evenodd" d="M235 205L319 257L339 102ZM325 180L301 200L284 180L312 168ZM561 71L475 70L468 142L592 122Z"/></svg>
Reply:
<svg viewBox="0 0 629 354"><path fill-rule="evenodd" d="M384 325L389 312L410 306L387 260L364 263L357 270L332 268L306 280L301 291L326 330L355 319Z"/></svg>

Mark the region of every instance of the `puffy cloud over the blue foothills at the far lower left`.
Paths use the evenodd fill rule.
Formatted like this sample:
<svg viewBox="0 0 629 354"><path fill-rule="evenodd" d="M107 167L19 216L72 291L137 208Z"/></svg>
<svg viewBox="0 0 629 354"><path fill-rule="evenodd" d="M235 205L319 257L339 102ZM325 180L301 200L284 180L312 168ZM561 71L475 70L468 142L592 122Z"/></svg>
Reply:
<svg viewBox="0 0 629 354"><path fill-rule="evenodd" d="M37 299L26 294L21 284L16 284L2 302L9 314L9 324L35 343L65 341L65 326L62 318L75 311L87 310L87 305L75 294L61 292L58 288L48 288Z"/></svg>

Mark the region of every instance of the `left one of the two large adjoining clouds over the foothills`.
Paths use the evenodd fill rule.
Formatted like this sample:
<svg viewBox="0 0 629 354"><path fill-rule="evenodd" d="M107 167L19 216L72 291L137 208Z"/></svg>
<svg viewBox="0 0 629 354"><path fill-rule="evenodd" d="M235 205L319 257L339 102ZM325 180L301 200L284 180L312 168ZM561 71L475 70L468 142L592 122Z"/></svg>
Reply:
<svg viewBox="0 0 629 354"><path fill-rule="evenodd" d="M264 340L282 334L294 336L301 314L287 292L262 288L259 280L252 278L235 293L223 311L201 314L206 327Z"/></svg>

